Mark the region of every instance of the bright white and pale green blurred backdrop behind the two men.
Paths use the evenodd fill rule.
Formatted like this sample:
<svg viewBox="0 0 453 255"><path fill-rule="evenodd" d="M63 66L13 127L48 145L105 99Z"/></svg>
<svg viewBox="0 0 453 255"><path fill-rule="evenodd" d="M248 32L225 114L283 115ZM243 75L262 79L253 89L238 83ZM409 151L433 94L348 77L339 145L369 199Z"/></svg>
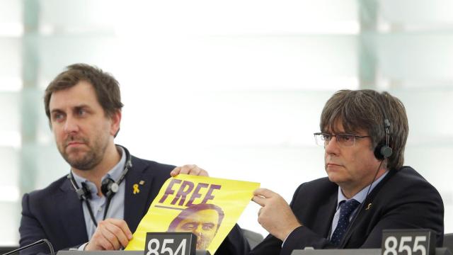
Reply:
<svg viewBox="0 0 453 255"><path fill-rule="evenodd" d="M453 3L442 0L0 0L0 245L18 243L21 196L64 176L43 90L75 62L120 81L116 142L137 157L258 181L288 202L326 176L314 144L338 89L403 101L406 165L453 232ZM241 227L262 234L251 203Z"/></svg>

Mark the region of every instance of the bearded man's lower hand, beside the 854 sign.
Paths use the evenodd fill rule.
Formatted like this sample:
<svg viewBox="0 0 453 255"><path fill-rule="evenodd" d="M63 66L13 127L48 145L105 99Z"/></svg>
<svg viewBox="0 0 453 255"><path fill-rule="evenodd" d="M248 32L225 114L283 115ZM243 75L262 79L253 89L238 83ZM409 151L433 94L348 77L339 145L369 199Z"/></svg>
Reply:
<svg viewBox="0 0 453 255"><path fill-rule="evenodd" d="M86 244L85 251L117 250L127 246L132 239L127 223L124 220L106 219L98 222L96 232Z"/></svg>

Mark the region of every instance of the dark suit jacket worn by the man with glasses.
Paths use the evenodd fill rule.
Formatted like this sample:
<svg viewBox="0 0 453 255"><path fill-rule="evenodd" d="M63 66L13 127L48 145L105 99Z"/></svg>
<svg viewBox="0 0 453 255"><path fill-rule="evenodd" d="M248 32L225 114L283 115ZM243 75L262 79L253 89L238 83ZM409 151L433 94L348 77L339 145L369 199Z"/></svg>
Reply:
<svg viewBox="0 0 453 255"><path fill-rule="evenodd" d="M312 246L328 249L328 234L336 212L338 186L328 178L303 183L290 204L303 225L282 241L268 235L251 254L291 254ZM371 205L369 205L371 204ZM379 248L383 229L427 228L436 232L437 246L444 234L444 205L437 190L414 169L389 171L360 208L340 249Z"/></svg>

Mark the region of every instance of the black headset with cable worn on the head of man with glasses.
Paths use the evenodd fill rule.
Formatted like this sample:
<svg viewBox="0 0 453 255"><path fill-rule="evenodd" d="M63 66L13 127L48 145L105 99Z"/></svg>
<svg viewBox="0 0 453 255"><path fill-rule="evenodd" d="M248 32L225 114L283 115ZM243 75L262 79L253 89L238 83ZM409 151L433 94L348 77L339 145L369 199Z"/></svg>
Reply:
<svg viewBox="0 0 453 255"><path fill-rule="evenodd" d="M387 115L385 114L384 107L382 106L382 104L378 103L377 105L379 106L379 109L382 113L382 117L384 117L385 140L382 140L381 142L379 142L377 144L376 148L374 148L374 157L381 160L381 163L379 164L379 167L376 170L376 174L374 174L373 181L369 184L369 188L367 191L367 195L365 196L365 199L363 200L362 204L360 204L359 208L357 209L357 212L355 212L355 215L354 215L354 217L352 217L352 220L350 220L348 228L346 229L345 234L343 234L343 238L340 240L340 244L338 247L344 246L346 237L348 237L348 234L350 234L350 232L353 232L354 228L352 228L352 225L355 222L355 219L357 219L357 216L359 215L360 210L362 210L363 206L365 205L365 201L368 198L369 191L371 191L371 187L373 186L374 181L376 181L376 176L377 176L377 173L379 173L379 169L381 169L382 163L384 163L384 161L386 161L391 156L391 154L393 154L393 149L391 149L391 147L390 147L391 123L389 121L389 118L387 118Z"/></svg>

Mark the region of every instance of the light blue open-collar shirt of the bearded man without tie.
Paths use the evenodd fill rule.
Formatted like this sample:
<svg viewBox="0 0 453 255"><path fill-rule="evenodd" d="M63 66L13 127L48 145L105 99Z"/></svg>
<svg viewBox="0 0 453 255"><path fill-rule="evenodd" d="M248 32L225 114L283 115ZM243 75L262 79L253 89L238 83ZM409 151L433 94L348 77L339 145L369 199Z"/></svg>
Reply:
<svg viewBox="0 0 453 255"><path fill-rule="evenodd" d="M125 164L126 164L126 153L122 147L117 147L120 148L121 152L121 159L118 164L113 166L113 169L108 171L105 176L103 176L102 180L105 178L111 178L114 181L117 181L120 179L120 176L122 174L122 171L125 169ZM91 199L88 200L91 206L91 210L93 211L93 215L96 218L96 222L100 222L103 220L104 217L104 211L105 211L105 205L107 203L107 198L105 196L98 196L98 188L96 187L96 184L92 183L91 181L88 181L81 176L78 176L77 174L72 171L72 175L74 176L74 180L76 180L76 183L79 187L81 187L81 183L85 182L86 185L90 188L91 191ZM115 219L124 219L125 215L125 180L123 180L120 184L118 192L113 196L112 200L110 200L110 205L108 206L107 210L107 215L105 215L105 218L115 218ZM86 234L88 235L88 240L91 239L93 236L94 232L96 231L96 225L94 225L93 220L91 220L90 217L90 212L88 212L88 208L86 207L86 203L83 203L83 210L84 210L84 218L85 218L85 225L86 225Z"/></svg>

